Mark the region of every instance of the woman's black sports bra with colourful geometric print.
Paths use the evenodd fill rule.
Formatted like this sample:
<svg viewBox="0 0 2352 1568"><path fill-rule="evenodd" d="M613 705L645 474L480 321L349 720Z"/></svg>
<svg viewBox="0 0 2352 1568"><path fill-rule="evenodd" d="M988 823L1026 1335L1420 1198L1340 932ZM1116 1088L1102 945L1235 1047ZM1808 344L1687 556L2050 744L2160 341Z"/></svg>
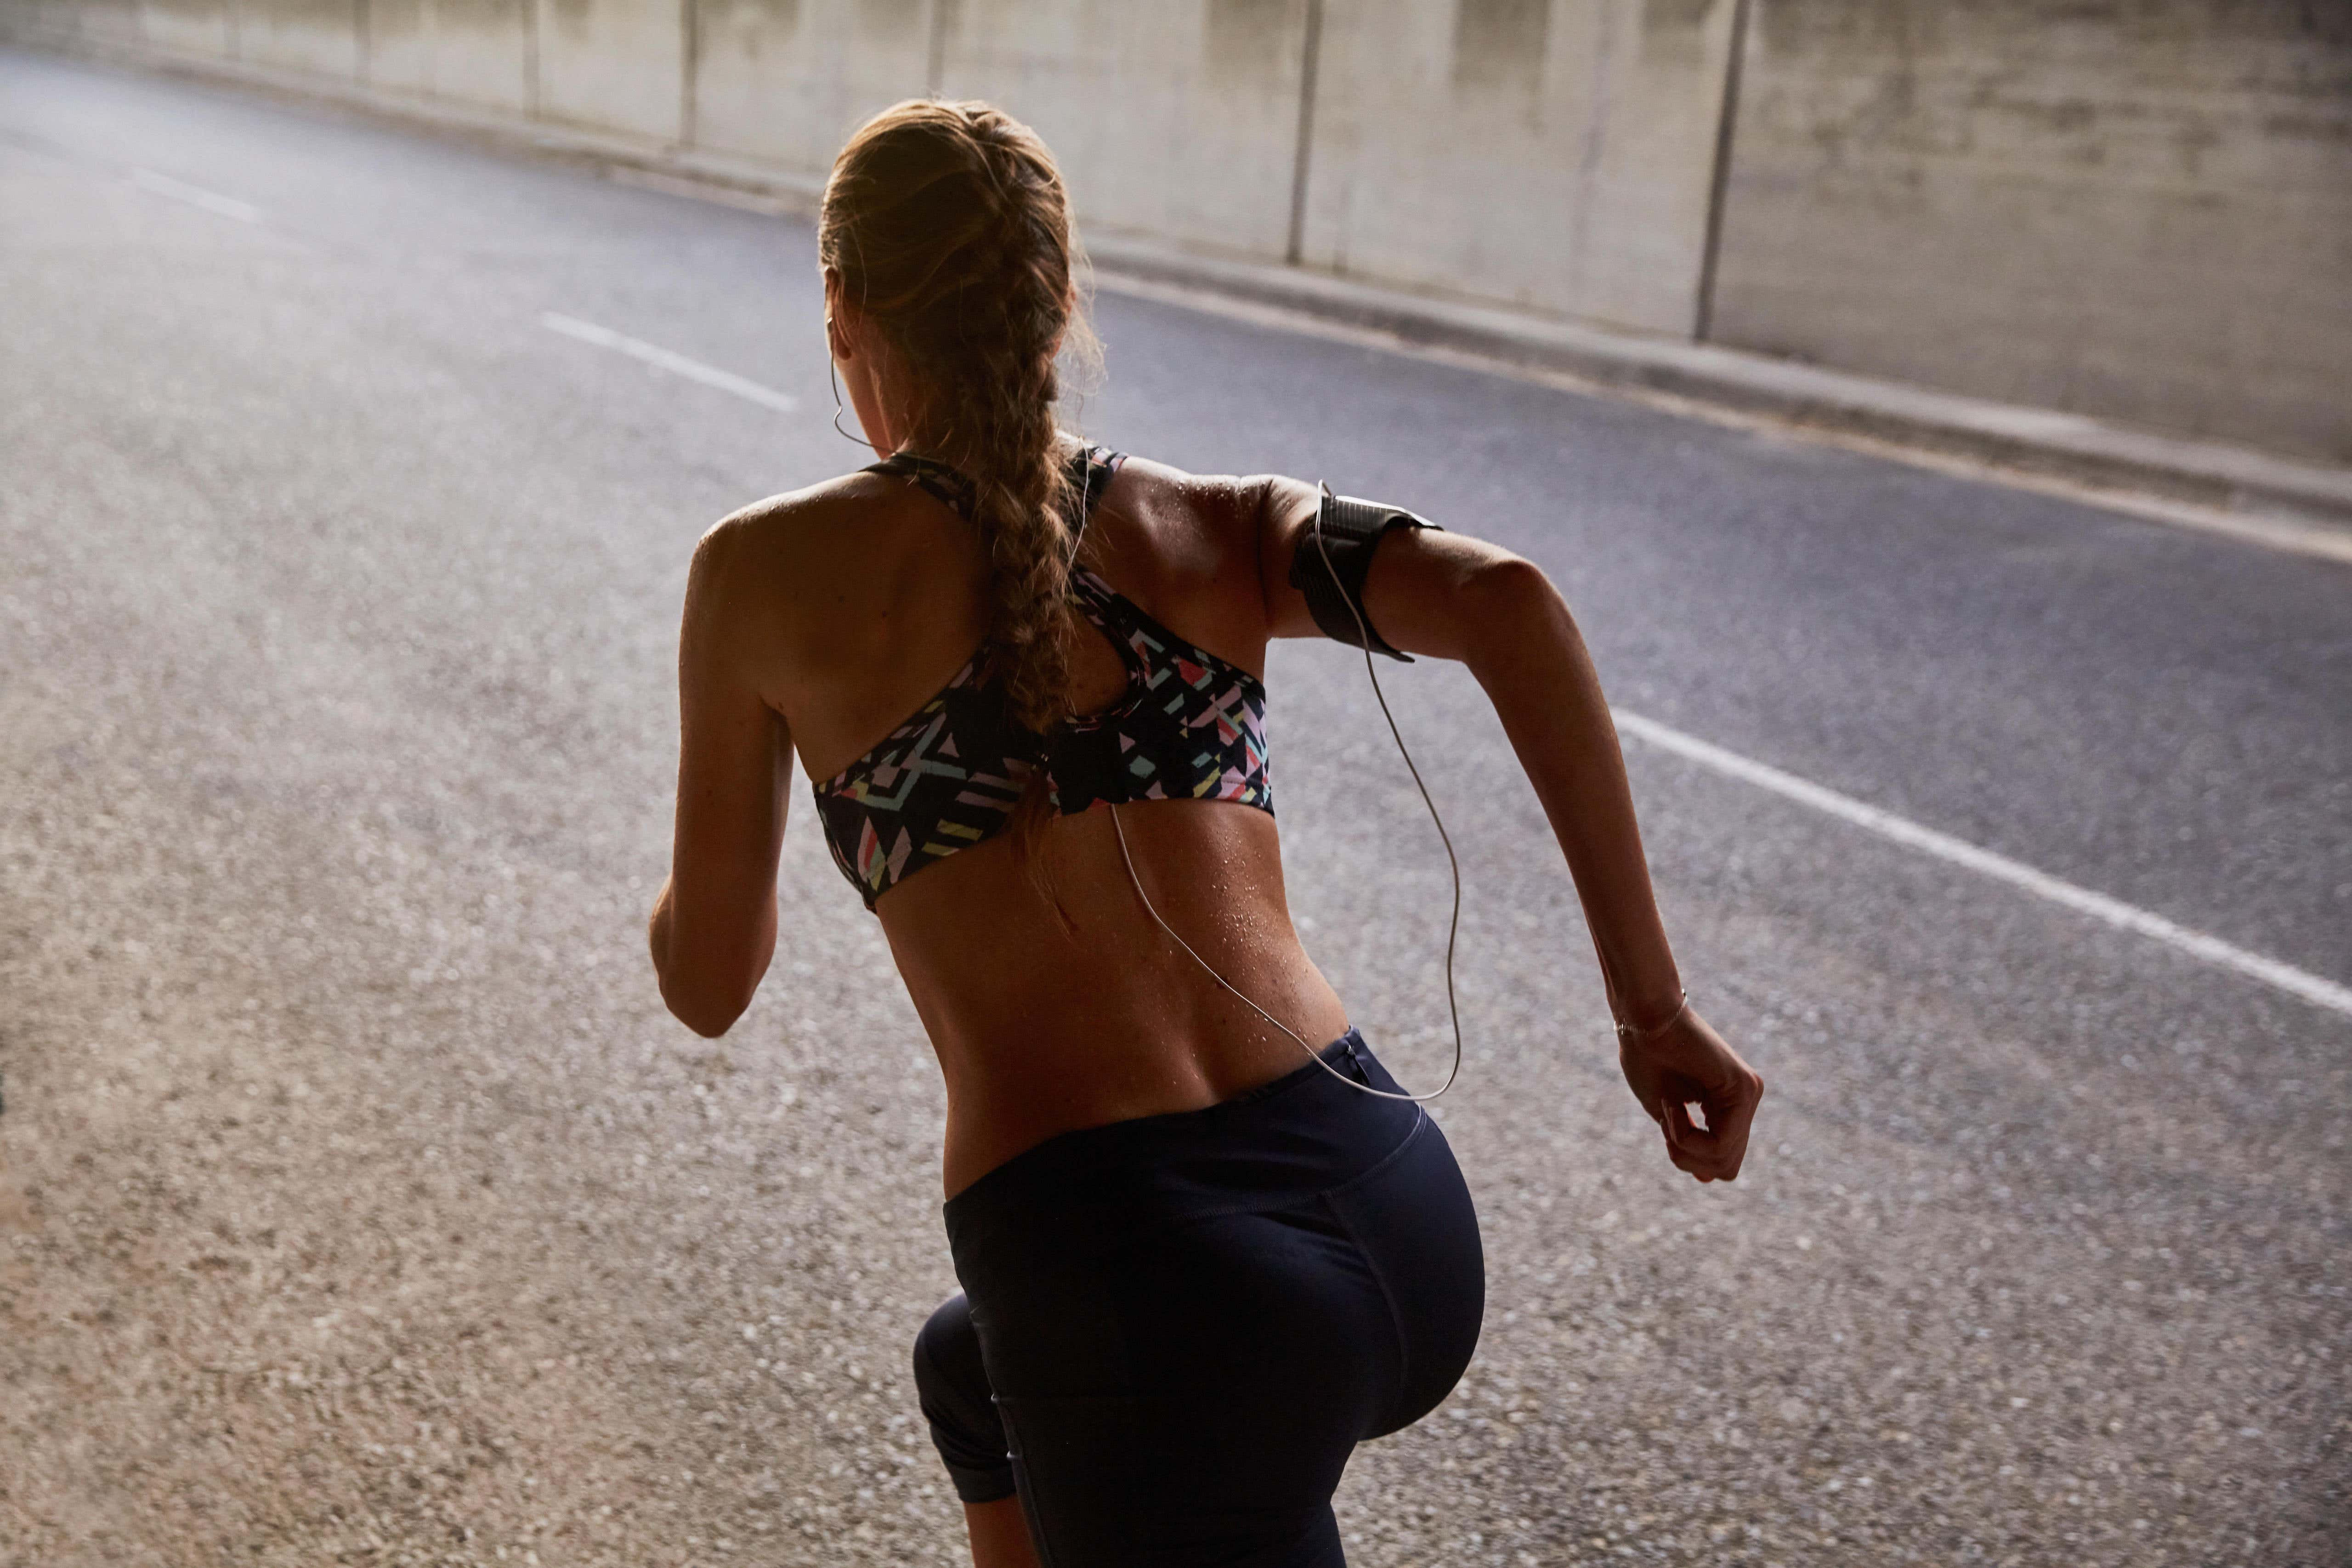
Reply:
<svg viewBox="0 0 2352 1568"><path fill-rule="evenodd" d="M1070 477L1082 496L1077 536L1124 461L1108 447L1087 447L1073 458ZM901 451L866 473L903 477L971 515L971 482L946 463ZM1185 642L1084 567L1070 571L1070 599L1120 651L1124 698L1037 736L1014 719L1002 691L981 679L974 651L938 696L816 785L833 863L868 910L924 865L1009 827L1040 766L1063 816L1131 799L1232 799L1275 809L1258 677Z"/></svg>

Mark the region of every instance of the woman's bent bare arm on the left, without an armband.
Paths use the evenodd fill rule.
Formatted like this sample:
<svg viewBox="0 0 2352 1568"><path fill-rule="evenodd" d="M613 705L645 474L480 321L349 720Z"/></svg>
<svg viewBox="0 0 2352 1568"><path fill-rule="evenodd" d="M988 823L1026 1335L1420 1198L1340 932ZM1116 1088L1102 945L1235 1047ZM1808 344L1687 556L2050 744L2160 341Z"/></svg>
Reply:
<svg viewBox="0 0 2352 1568"><path fill-rule="evenodd" d="M677 635L677 827L654 900L661 999L696 1034L724 1034L776 952L776 856L793 736L757 684L748 520L703 534Z"/></svg>

